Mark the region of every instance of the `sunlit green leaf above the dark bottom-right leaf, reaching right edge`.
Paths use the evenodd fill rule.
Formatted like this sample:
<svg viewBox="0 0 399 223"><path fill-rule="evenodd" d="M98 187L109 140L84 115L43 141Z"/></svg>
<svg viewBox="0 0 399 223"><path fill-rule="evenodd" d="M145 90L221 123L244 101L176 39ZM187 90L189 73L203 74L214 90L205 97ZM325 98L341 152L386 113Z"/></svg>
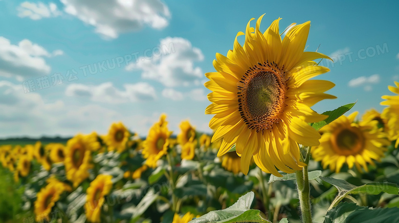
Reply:
<svg viewBox="0 0 399 223"><path fill-rule="evenodd" d="M349 194L359 194L359 193L366 193L366 194L379 194L381 192L389 193L389 194L399 194L399 188L397 187L396 184L393 183L380 183L380 182L375 182L375 183L368 183L362 186L354 186L353 184L350 184L344 180L338 180L334 178L329 178L329 177L320 177L321 180L330 183L337 187L339 194L338 196L334 199L334 201L331 203L331 206L328 208L330 210L331 208L334 208L335 206L338 205L340 201L344 199L346 195Z"/></svg>

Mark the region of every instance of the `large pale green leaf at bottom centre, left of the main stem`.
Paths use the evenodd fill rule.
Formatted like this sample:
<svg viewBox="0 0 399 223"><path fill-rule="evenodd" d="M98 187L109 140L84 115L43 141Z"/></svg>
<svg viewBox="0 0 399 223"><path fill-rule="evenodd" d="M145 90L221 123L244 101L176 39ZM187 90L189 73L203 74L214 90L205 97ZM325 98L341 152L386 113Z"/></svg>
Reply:
<svg viewBox="0 0 399 223"><path fill-rule="evenodd" d="M250 209L254 197L255 194L251 191L241 196L234 205L224 210L211 211L191 220L190 223L269 222L264 219L259 210Z"/></svg>

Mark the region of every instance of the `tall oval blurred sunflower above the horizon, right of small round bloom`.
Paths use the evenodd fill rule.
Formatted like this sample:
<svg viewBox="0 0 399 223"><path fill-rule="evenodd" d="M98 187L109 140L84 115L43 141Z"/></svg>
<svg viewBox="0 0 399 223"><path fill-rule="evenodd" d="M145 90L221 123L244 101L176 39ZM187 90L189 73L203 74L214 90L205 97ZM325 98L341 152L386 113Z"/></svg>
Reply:
<svg viewBox="0 0 399 223"><path fill-rule="evenodd" d="M169 137L172 134L166 125L154 125L148 132L143 142L143 157L148 167L157 167L157 161L166 155L169 145Z"/></svg>

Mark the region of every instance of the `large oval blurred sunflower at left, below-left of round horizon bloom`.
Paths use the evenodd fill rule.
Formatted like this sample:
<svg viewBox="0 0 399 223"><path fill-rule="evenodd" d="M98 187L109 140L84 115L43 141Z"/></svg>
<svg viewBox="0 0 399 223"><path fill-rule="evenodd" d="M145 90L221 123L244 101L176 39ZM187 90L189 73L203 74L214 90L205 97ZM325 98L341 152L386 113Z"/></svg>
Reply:
<svg viewBox="0 0 399 223"><path fill-rule="evenodd" d="M91 154L95 149L93 143L87 137L78 134L66 143L65 170L66 179L77 187L88 177L88 169L92 168Z"/></svg>

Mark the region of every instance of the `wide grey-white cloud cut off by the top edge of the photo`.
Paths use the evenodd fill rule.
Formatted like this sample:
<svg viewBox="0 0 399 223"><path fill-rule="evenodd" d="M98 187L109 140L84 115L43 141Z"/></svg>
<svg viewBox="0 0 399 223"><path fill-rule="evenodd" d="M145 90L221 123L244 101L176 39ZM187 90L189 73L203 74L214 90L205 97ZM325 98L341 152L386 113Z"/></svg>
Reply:
<svg viewBox="0 0 399 223"><path fill-rule="evenodd" d="M161 0L61 0L65 12L96 28L106 38L138 31L144 26L163 29L170 12ZM106 16L105 16L106 15Z"/></svg>

